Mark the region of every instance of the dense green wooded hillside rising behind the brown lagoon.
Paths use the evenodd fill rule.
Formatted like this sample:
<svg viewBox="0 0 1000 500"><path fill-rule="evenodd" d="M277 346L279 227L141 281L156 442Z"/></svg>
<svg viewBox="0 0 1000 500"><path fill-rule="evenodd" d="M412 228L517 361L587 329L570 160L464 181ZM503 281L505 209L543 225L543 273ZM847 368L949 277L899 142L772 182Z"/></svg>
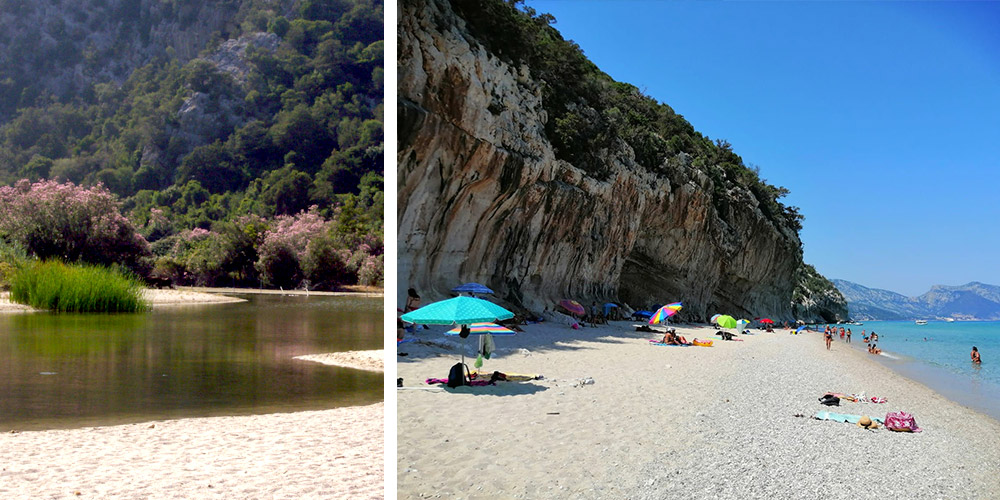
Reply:
<svg viewBox="0 0 1000 500"><path fill-rule="evenodd" d="M141 45L159 25L195 29L204 24L199 16L229 17L211 36L191 34L208 40L200 57L150 49L148 60L119 75L121 83L113 77L125 63L114 51L87 56L87 47L75 46L74 54L91 58L95 76L72 92L0 78L0 87L16 94L0 102L0 183L100 184L95 192L121 200L121 214L152 252L133 252L136 258L151 255L154 273L180 282L381 281L381 267L371 269L381 266L382 253L381 2L160 1L152 13L122 11L136 2L98 3L114 22L79 14L71 28L106 29L123 47ZM46 26L46 36L56 28ZM42 74L80 64L36 55L10 57ZM116 71L104 71L109 67ZM297 229L288 220L302 217L322 222L313 241L271 243ZM0 238L40 257L100 262L46 250L12 228L0 228Z"/></svg>

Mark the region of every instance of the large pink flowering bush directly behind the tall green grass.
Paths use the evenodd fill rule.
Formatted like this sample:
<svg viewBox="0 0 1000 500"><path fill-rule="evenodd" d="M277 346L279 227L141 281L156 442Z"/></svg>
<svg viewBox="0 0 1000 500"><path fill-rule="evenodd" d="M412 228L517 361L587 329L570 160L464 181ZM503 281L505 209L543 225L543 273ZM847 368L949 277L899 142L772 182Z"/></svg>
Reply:
<svg viewBox="0 0 1000 500"><path fill-rule="evenodd" d="M149 243L101 184L29 182L0 187L0 235L40 259L110 265L145 274Z"/></svg>

